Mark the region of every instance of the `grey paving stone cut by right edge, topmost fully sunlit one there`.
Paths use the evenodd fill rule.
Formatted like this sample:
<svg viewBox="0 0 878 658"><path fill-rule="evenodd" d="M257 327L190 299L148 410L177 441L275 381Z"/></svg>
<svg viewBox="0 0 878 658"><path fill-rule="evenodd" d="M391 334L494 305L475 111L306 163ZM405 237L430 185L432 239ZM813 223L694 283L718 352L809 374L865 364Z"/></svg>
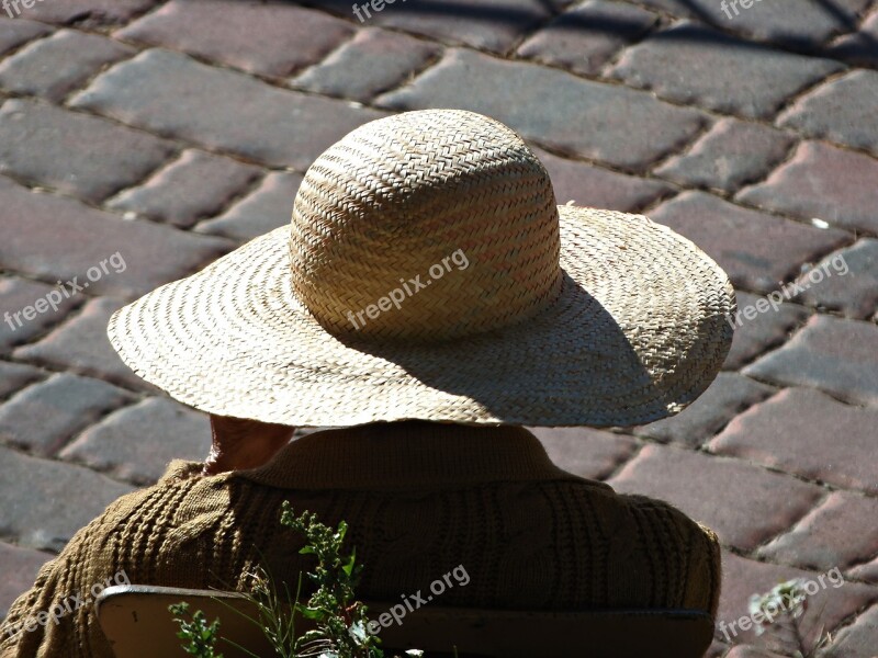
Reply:
<svg viewBox="0 0 878 658"><path fill-rule="evenodd" d="M878 154L878 71L855 70L808 93L779 124Z"/></svg>

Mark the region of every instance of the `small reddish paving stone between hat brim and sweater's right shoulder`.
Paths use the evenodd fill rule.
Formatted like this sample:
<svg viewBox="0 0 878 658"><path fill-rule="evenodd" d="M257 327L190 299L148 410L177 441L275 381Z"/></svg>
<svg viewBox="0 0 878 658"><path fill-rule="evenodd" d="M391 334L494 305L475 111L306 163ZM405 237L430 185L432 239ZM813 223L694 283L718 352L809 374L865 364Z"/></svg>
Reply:
<svg viewBox="0 0 878 658"><path fill-rule="evenodd" d="M592 428L528 428L549 457L564 470L587 479L612 475L638 450L631 436Z"/></svg>

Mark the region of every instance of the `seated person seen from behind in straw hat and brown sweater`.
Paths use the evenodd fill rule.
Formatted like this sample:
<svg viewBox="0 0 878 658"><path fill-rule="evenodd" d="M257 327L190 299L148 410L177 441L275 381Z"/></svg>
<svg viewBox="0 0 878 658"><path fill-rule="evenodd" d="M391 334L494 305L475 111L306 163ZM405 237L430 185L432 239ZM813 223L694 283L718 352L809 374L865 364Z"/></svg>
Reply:
<svg viewBox="0 0 878 658"><path fill-rule="evenodd" d="M460 565L442 605L712 616L716 535L561 470L521 426L679 411L719 371L733 309L724 272L669 229L555 206L506 126L367 124L308 169L291 227L113 316L122 359L211 413L214 449L80 531L13 604L0 656L112 656L90 605L9 629L123 569L243 589L263 564L295 582L308 563L283 500L348 521L364 599ZM294 427L339 429L290 443Z"/></svg>

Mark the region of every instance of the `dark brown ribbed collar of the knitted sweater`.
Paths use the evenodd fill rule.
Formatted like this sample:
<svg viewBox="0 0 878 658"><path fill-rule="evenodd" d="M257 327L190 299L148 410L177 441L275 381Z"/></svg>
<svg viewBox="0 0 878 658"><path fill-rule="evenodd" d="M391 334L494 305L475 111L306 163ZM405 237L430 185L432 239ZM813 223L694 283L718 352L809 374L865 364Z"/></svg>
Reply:
<svg viewBox="0 0 878 658"><path fill-rule="evenodd" d="M376 422L295 439L268 464L229 474L283 489L448 488L489 481L579 480L514 426Z"/></svg>

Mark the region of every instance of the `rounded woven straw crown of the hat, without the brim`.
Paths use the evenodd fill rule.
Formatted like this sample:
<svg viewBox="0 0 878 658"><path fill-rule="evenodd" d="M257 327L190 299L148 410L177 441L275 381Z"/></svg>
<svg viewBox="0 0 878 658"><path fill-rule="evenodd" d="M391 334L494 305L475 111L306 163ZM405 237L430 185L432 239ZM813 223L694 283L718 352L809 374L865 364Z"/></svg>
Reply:
<svg viewBox="0 0 878 658"><path fill-rule="evenodd" d="M368 123L307 170L293 207L293 290L337 336L436 341L513 325L560 294L549 174L472 112Z"/></svg>

